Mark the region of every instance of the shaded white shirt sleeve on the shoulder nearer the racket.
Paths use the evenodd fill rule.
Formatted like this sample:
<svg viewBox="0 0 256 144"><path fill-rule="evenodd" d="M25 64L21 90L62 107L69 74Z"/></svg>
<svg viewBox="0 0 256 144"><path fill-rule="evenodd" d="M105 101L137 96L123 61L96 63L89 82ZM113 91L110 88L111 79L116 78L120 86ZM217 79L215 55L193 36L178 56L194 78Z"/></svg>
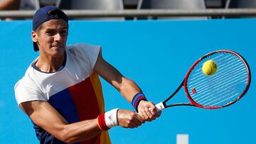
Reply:
<svg viewBox="0 0 256 144"><path fill-rule="evenodd" d="M90 61L90 67L93 70L95 67L95 63L97 62L97 57L99 56L101 46L78 43L77 48L78 51L82 53L82 55L84 55L87 58L87 60Z"/></svg>

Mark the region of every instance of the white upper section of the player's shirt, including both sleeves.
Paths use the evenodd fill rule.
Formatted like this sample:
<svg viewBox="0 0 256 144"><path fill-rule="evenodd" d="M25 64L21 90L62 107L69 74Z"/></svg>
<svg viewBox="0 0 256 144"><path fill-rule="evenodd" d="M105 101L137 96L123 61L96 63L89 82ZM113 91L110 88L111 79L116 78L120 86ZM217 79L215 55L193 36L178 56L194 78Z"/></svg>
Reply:
<svg viewBox="0 0 256 144"><path fill-rule="evenodd" d="M66 48L66 64L58 72L40 72L32 67L34 60L26 70L14 89L16 101L48 101L50 96L57 94L90 77L100 52L100 46L79 43Z"/></svg>

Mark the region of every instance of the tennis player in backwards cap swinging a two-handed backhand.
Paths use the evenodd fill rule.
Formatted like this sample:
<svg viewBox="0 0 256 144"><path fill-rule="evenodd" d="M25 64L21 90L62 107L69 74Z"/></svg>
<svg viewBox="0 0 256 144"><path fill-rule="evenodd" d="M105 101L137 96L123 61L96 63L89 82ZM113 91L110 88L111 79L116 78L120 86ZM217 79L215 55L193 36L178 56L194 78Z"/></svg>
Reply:
<svg viewBox="0 0 256 144"><path fill-rule="evenodd" d="M159 117L137 84L102 58L97 45L66 45L68 17L55 6L33 16L33 49L39 57L15 85L18 106L31 118L40 143L111 143L107 130L137 128ZM105 111L98 74L135 111ZM114 99L114 97L113 97Z"/></svg>

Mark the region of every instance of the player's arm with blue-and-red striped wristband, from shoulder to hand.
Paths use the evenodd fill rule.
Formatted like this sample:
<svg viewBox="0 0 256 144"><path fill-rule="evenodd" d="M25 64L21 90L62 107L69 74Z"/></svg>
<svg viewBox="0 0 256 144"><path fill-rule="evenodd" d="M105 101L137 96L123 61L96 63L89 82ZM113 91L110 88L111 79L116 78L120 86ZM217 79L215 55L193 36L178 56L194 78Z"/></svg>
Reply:
<svg viewBox="0 0 256 144"><path fill-rule="evenodd" d="M160 116L160 112L156 111L156 106L144 99L144 94L138 85L132 79L124 77L117 69L106 62L102 57L102 52L97 57L94 70L112 84L127 101L133 103L134 109L137 109L137 112L145 121L152 121Z"/></svg>

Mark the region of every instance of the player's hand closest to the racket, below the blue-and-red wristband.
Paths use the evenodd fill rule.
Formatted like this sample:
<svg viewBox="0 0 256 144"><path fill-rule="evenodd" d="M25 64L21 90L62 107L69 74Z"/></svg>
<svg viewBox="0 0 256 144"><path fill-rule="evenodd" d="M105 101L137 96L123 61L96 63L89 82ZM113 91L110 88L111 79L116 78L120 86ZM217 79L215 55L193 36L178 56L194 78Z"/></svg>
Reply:
<svg viewBox="0 0 256 144"><path fill-rule="evenodd" d="M139 115L144 121L153 121L161 115L161 111L156 111L156 106L149 101L139 101Z"/></svg>

